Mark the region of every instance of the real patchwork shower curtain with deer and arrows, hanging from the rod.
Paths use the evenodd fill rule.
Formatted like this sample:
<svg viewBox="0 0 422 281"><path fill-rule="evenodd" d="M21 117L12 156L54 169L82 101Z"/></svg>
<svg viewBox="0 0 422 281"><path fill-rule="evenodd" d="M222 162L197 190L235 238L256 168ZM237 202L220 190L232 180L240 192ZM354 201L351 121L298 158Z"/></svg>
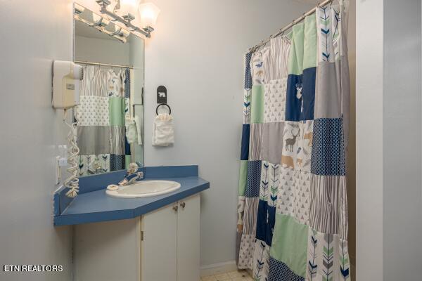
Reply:
<svg viewBox="0 0 422 281"><path fill-rule="evenodd" d="M238 268L255 280L350 280L347 1L245 55Z"/></svg>

